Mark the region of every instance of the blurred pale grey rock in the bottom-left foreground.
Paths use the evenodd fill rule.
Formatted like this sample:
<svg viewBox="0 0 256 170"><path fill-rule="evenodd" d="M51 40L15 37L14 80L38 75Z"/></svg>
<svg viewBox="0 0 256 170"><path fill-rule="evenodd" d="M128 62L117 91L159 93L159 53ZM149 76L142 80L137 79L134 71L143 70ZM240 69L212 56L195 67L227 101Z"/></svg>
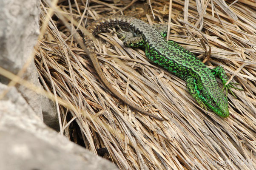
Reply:
<svg viewBox="0 0 256 170"><path fill-rule="evenodd" d="M3 170L118 169L47 127L15 88L0 101L0 150Z"/></svg>

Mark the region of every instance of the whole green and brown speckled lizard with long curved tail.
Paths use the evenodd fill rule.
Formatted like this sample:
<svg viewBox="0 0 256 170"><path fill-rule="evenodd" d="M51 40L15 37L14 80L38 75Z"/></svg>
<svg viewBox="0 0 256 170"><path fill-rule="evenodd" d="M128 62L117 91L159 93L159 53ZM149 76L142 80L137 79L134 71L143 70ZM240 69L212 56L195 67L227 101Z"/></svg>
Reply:
<svg viewBox="0 0 256 170"><path fill-rule="evenodd" d="M93 21L86 29L93 36L96 36L107 28L117 26L132 34L132 36L124 38L123 43L125 46L143 48L145 50L145 56L148 57L148 59L157 65L162 66L177 77L185 80L188 92L202 108L209 108L223 118L229 116L228 90L233 94L231 88L239 90L243 89L233 86L233 84L239 83L229 82L226 84L226 82L228 82L228 77L223 67L217 66L213 69L209 69L200 59L187 49L174 41L166 41L164 37L166 37L167 29L166 32L163 31L164 29L160 29L159 31L157 25L150 26L135 17L121 15L103 17ZM159 28L162 27L160 26ZM87 55L90 57L98 76L105 87L107 87L114 96L130 108L139 111L142 114L161 121L163 120L158 116L144 111L142 108L134 105L124 96L119 94L119 92L108 82L100 68L91 37L84 34L83 42L87 47ZM218 76L222 81L223 89L217 84L215 76ZM223 93L224 89L226 90L226 95ZM235 95L233 94L233 96Z"/></svg>

